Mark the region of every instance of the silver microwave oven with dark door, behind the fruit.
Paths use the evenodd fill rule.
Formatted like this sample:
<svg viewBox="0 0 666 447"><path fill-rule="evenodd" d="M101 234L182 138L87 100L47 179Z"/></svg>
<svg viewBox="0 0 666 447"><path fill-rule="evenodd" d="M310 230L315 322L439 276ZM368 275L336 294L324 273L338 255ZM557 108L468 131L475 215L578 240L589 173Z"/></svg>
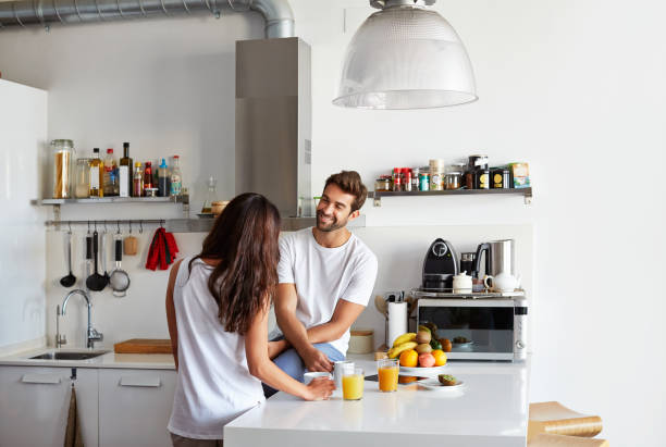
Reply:
<svg viewBox="0 0 666 447"><path fill-rule="evenodd" d="M452 342L451 360L525 360L527 318L525 296L420 298L417 305L417 324Z"/></svg>

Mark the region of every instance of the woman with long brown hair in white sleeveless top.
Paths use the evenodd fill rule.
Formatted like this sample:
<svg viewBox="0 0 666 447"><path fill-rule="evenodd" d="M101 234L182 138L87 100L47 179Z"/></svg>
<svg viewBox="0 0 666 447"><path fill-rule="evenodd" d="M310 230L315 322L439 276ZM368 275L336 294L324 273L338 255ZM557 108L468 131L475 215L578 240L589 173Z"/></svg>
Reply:
<svg viewBox="0 0 666 447"><path fill-rule="evenodd" d="M261 382L306 400L328 399L334 389L326 378L306 386L269 358L279 233L278 209L244 194L215 220L201 252L171 269L166 320L178 376L168 429L174 446L221 445L224 425L264 400Z"/></svg>

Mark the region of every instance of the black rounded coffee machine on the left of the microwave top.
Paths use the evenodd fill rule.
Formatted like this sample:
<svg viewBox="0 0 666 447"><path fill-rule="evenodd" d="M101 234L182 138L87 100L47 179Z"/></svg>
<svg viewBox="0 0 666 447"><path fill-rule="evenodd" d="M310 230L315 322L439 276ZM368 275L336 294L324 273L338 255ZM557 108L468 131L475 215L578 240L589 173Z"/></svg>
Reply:
<svg viewBox="0 0 666 447"><path fill-rule="evenodd" d="M423 259L424 290L441 290L453 288L453 277L460 272L459 260L454 246L442 238L435 239Z"/></svg>

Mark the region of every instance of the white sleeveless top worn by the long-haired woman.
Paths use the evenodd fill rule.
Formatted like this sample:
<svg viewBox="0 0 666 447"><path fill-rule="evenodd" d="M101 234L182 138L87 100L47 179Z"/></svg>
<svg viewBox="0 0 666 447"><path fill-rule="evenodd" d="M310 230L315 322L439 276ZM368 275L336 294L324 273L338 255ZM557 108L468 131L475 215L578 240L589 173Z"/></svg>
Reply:
<svg viewBox="0 0 666 447"><path fill-rule="evenodd" d="M263 402L261 381L250 375L245 337L224 332L208 290L212 268L181 262L173 288L178 328L178 375L168 429L180 436L222 439L224 425Z"/></svg>

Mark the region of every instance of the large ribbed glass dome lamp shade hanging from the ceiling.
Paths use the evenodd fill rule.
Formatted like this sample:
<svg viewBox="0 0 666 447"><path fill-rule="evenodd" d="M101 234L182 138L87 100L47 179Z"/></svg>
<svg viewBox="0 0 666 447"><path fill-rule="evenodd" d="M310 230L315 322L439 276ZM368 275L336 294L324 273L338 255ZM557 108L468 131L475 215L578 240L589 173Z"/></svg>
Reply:
<svg viewBox="0 0 666 447"><path fill-rule="evenodd" d="M474 75L455 29L436 11L386 8L351 39L335 105L427 109L477 100Z"/></svg>

